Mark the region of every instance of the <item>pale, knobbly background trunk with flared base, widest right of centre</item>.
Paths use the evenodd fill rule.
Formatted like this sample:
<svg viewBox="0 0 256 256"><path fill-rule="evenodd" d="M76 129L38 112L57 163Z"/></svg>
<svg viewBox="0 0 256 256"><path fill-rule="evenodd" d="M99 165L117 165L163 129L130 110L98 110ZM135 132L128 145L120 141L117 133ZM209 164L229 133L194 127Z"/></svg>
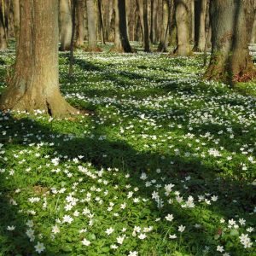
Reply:
<svg viewBox="0 0 256 256"><path fill-rule="evenodd" d="M175 18L177 26L177 49L175 54L187 56L189 46L189 0L175 0Z"/></svg>

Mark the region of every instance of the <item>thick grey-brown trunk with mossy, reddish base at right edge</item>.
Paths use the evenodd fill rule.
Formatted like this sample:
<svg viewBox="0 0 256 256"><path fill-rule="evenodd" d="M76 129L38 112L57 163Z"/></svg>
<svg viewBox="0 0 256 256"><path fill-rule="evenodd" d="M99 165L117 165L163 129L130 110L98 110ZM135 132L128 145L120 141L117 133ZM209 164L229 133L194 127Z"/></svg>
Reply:
<svg viewBox="0 0 256 256"><path fill-rule="evenodd" d="M255 76L249 55L247 20L243 1L211 1L212 55L206 79L233 84Z"/></svg>

